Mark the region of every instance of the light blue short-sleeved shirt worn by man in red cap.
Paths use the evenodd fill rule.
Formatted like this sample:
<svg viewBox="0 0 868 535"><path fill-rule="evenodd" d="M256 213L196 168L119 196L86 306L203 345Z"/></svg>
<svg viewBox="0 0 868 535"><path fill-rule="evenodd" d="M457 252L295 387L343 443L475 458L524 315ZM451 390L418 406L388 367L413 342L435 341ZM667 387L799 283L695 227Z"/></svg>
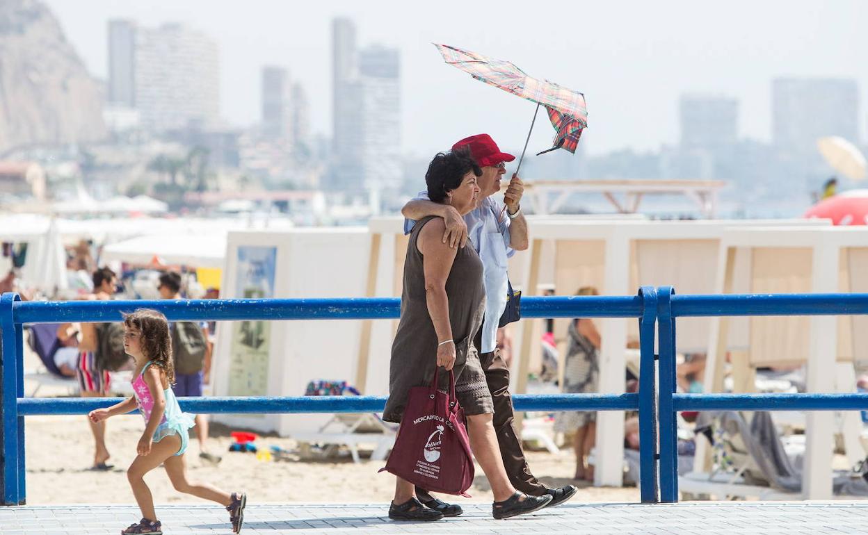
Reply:
<svg viewBox="0 0 868 535"><path fill-rule="evenodd" d="M429 200L427 192L419 192L413 200ZM483 343L479 351L490 353L497 346L497 323L506 309L507 258L516 254L510 247L510 218L503 211L503 203L486 197L475 209L464 216L470 244L483 261L485 284L485 320ZM503 213L503 216L501 216ZM404 234L413 230L416 221L404 219Z"/></svg>

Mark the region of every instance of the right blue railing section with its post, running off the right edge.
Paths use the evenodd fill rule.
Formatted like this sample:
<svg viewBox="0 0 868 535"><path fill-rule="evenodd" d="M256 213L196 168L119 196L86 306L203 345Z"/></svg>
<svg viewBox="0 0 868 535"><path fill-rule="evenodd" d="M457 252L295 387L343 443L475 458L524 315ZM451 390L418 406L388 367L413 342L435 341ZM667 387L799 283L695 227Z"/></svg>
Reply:
<svg viewBox="0 0 868 535"><path fill-rule="evenodd" d="M676 394L675 318L699 316L838 316L868 314L868 294L679 296L657 291L660 337L657 418L660 422L660 501L678 501L675 413L685 410L865 410L866 394ZM722 356L718 356L722 358ZM644 437L643 439L644 440Z"/></svg>

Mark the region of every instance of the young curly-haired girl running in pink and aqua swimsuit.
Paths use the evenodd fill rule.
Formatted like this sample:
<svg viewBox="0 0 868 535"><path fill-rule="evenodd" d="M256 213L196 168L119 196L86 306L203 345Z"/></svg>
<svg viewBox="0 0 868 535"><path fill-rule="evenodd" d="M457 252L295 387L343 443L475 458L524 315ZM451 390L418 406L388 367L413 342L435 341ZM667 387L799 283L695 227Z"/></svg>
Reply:
<svg viewBox="0 0 868 535"><path fill-rule="evenodd" d="M226 506L232 521L232 531L240 532L247 494L229 494L214 486L187 481L184 451L187 449L187 429L193 427L194 421L191 414L181 413L178 400L170 388L174 381L174 367L166 316L156 310L139 309L124 317L123 329L123 347L128 355L135 358L134 395L112 407L97 408L89 414L91 421L98 422L138 408L145 418L145 432L136 447L138 456L127 470L129 485L133 488L142 519L123 530L122 535L161 535L154 499L142 479L161 464L165 466L175 490Z"/></svg>

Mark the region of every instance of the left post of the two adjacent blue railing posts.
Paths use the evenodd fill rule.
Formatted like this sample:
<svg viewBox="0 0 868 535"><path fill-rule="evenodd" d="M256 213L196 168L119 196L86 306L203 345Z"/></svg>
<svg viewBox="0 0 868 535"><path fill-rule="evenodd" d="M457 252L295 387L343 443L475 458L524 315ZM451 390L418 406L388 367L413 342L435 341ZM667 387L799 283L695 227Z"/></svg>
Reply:
<svg viewBox="0 0 868 535"><path fill-rule="evenodd" d="M643 504L660 502L657 469L657 405L654 373L654 336L657 320L657 290L653 286L639 289L642 316L639 319L639 465Z"/></svg>

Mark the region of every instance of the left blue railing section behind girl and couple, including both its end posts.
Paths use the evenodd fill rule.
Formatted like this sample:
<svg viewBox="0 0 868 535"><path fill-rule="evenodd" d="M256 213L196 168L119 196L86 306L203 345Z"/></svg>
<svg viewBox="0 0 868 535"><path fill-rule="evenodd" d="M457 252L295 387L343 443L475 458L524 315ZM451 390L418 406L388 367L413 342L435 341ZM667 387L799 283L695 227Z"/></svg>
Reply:
<svg viewBox="0 0 868 535"><path fill-rule="evenodd" d="M23 324L120 321L124 312L147 307L179 320L390 319L400 314L397 298L223 299L190 301L78 301L23 303L15 294L0 297L3 358L0 367L0 493L4 505L25 502L24 417L34 414L86 414L109 407L110 398L28 399L23 397ZM643 433L654 434L654 322L656 290L643 287L636 297L525 297L522 316L622 317L640 323L641 384L638 394L516 395L516 410L638 410ZM194 397L181 408L196 413L367 413L380 412L385 397ZM641 443L641 499L657 501L654 440Z"/></svg>

